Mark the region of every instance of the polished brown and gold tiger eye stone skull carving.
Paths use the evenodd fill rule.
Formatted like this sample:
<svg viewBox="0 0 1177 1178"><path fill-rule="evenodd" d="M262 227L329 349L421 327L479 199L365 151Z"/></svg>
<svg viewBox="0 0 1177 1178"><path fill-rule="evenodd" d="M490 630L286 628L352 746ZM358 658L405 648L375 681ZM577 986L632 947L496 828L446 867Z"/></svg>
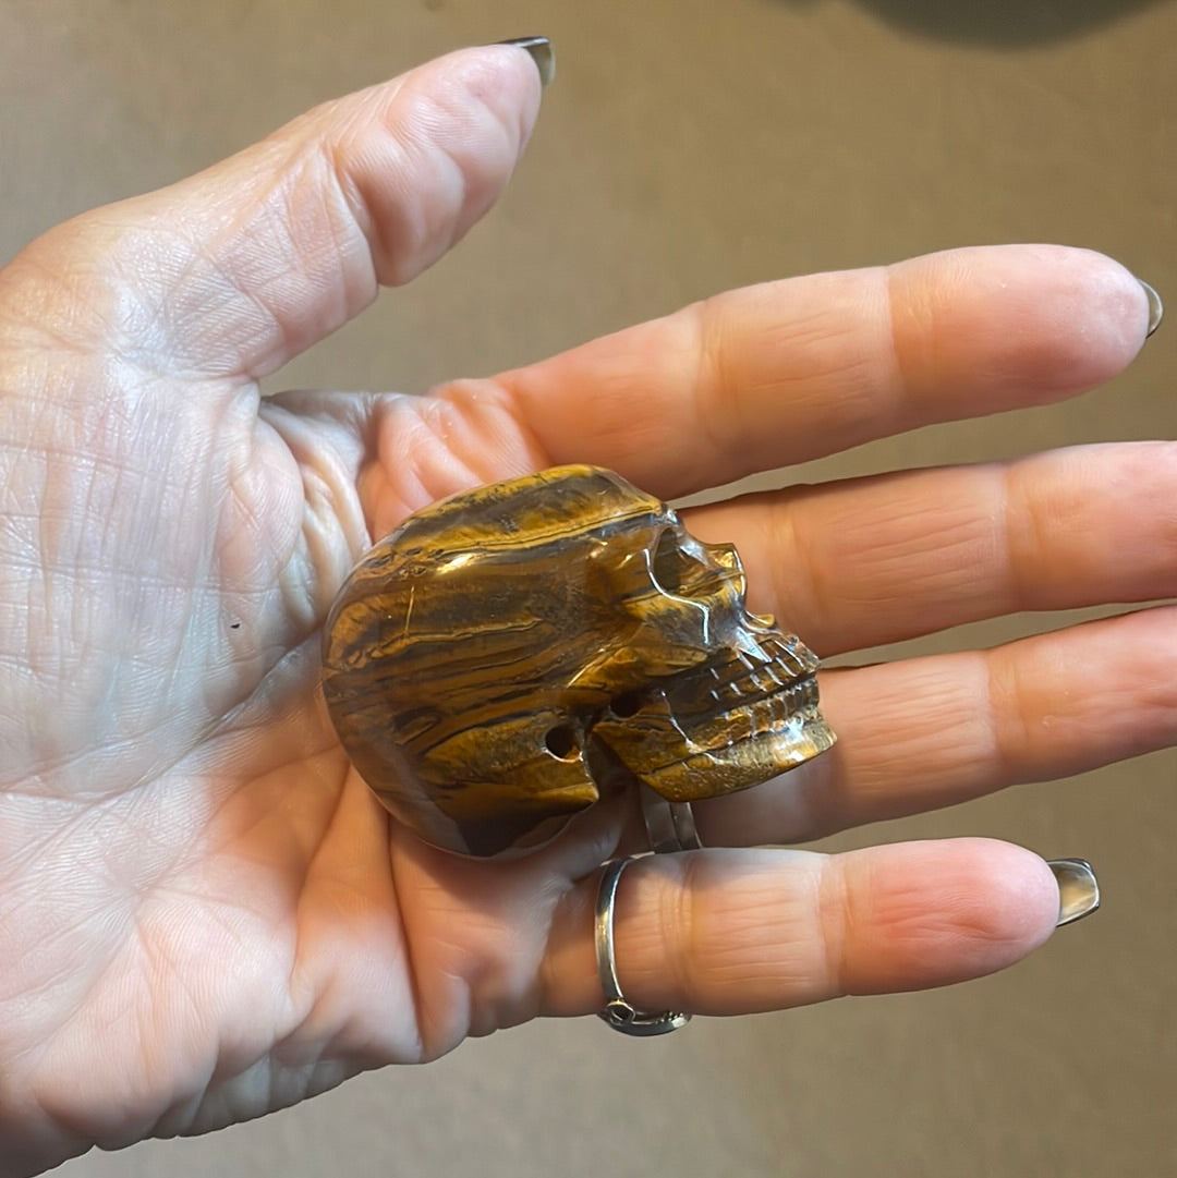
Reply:
<svg viewBox="0 0 1177 1178"><path fill-rule="evenodd" d="M422 838L517 853L604 795L758 785L834 742L816 657L745 608L739 556L611 471L564 466L408 519L331 610L324 693Z"/></svg>

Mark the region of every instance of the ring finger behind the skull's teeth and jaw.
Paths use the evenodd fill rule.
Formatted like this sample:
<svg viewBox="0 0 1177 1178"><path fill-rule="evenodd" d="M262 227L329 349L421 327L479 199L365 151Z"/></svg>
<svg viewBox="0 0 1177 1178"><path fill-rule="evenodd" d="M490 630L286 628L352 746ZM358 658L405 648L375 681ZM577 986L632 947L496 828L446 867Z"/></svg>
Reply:
<svg viewBox="0 0 1177 1178"><path fill-rule="evenodd" d="M1175 615L1161 607L992 650L832 671L822 707L838 744L753 789L695 802L703 843L815 839L1169 748ZM633 829L644 847L636 815Z"/></svg>

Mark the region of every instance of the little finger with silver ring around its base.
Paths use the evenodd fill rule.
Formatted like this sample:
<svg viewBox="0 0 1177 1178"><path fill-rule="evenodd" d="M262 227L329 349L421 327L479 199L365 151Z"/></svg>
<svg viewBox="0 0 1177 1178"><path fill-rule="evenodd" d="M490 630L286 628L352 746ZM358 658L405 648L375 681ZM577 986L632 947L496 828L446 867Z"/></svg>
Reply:
<svg viewBox="0 0 1177 1178"><path fill-rule="evenodd" d="M557 915L543 967L545 1014L602 1006L599 879L582 881ZM1038 948L1058 921L1051 868L984 839L840 855L649 855L620 881L615 964L640 1010L747 1014L979 978Z"/></svg>

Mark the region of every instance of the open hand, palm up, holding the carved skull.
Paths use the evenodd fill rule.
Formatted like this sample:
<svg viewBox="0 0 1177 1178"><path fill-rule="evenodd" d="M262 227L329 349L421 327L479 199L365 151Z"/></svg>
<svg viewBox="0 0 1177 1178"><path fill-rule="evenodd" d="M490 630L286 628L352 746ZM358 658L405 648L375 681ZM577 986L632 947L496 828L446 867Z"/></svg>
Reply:
<svg viewBox="0 0 1177 1178"><path fill-rule="evenodd" d="M462 236L538 99L518 49L455 54L64 225L0 272L6 1172L600 1005L596 868L634 839L624 815L471 862L390 823L349 770L317 695L319 629L372 537L564 462L672 497L1059 401L1144 339L1145 296L1105 258L963 250L723 294L427 398L262 398L262 377ZM688 524L734 541L753 604L834 655L1170 596L1175 455L1091 446L796 487ZM700 806L715 849L627 873L627 994L730 1014L1016 961L1058 912L1030 852L743 848L1165 746L1173 634L1158 608L831 671L834 753Z"/></svg>

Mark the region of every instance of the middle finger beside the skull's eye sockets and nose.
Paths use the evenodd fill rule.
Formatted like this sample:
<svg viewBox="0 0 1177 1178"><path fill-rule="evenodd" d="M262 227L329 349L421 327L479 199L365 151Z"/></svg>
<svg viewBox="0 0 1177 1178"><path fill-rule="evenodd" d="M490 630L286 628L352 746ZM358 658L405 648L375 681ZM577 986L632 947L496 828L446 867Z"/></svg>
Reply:
<svg viewBox="0 0 1177 1178"><path fill-rule="evenodd" d="M794 488L685 518L735 544L753 609L829 656L1021 610L1171 596L1175 503L1177 445L1140 442Z"/></svg>

